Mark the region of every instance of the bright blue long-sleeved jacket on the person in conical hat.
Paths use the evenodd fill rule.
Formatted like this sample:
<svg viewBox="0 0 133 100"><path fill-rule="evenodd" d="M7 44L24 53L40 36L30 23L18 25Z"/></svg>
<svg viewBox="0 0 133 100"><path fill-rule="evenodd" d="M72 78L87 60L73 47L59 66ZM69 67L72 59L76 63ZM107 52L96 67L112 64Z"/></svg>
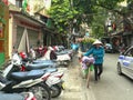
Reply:
<svg viewBox="0 0 133 100"><path fill-rule="evenodd" d="M90 54L92 54L95 59L94 64L103 63L103 57L104 57L104 48L103 47L100 47L98 49L95 47L92 47L89 51L86 51L84 53L84 56L90 56Z"/></svg>

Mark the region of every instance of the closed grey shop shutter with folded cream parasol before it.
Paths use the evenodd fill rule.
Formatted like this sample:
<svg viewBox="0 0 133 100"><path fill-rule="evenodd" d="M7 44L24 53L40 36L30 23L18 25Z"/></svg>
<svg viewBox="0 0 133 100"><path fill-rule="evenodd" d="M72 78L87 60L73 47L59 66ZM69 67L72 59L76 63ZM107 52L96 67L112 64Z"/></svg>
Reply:
<svg viewBox="0 0 133 100"><path fill-rule="evenodd" d="M25 29L24 27L18 26L16 47L18 48L19 51L28 51L29 47L37 46L38 36L39 36L38 31Z"/></svg>

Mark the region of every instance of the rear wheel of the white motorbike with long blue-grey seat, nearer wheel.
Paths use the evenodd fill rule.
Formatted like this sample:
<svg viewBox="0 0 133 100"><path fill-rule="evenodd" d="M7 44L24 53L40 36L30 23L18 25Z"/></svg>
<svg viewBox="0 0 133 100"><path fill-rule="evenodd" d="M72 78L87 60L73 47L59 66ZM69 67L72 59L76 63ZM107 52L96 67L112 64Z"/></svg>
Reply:
<svg viewBox="0 0 133 100"><path fill-rule="evenodd" d="M34 86L30 88L30 91L33 92L37 100L50 100L51 93L48 87L43 84Z"/></svg>

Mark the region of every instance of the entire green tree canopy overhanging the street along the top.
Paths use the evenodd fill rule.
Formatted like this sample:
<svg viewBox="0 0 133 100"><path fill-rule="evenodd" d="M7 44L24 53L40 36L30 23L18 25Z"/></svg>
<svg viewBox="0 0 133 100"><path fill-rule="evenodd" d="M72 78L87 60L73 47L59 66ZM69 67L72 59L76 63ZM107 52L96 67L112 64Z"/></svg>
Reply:
<svg viewBox="0 0 133 100"><path fill-rule="evenodd" d="M79 30L81 23L86 23L93 27L93 33L103 36L108 11L121 14L117 3L122 1L124 0L52 0L49 13L59 32L66 32L73 27Z"/></svg>

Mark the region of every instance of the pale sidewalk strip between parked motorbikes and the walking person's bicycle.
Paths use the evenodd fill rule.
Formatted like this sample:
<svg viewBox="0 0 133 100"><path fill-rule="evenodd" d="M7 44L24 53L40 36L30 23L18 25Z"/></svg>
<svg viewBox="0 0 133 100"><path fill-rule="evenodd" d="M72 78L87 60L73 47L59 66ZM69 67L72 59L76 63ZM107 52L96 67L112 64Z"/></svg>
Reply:
<svg viewBox="0 0 133 100"><path fill-rule="evenodd" d="M95 100L91 83L90 88L86 88L85 79L82 79L78 57L73 58L68 68L61 68L60 70L64 70L65 90L62 91L59 98L52 100Z"/></svg>

